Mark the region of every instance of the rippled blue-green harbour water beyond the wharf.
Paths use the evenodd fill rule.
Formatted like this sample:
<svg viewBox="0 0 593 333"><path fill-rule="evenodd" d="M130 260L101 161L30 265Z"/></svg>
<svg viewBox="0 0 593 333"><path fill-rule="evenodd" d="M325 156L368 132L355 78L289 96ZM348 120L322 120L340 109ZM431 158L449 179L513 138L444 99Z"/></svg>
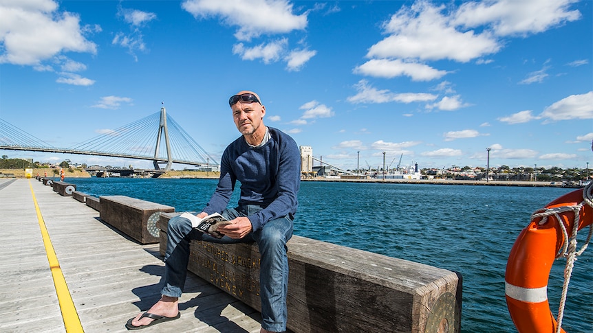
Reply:
<svg viewBox="0 0 593 333"><path fill-rule="evenodd" d="M94 196L132 196L171 205L176 211L202 209L217 183L213 179L66 181ZM516 332L504 297L508 253L533 211L571 191L554 187L302 182L294 233L460 272L462 332ZM237 195L231 203L237 203ZM581 231L579 244L586 233L587 229ZM566 332L593 332L592 253L592 248L587 249L575 264L562 325ZM554 316L564 264L564 260L557 260L550 273L548 298Z"/></svg>

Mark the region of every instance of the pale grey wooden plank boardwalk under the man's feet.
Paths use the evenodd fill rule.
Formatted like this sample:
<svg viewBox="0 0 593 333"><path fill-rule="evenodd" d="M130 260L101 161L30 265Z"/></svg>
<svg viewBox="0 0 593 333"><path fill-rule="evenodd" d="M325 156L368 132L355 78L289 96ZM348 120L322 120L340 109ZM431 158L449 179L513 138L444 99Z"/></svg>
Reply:
<svg viewBox="0 0 593 333"><path fill-rule="evenodd" d="M158 300L164 273L158 244L138 244L98 216L36 179L0 179L0 332L66 332L65 320L76 314L84 332L127 332L127 319ZM41 225L74 314L58 303ZM192 273L180 310L180 319L142 332L259 332L259 312Z"/></svg>

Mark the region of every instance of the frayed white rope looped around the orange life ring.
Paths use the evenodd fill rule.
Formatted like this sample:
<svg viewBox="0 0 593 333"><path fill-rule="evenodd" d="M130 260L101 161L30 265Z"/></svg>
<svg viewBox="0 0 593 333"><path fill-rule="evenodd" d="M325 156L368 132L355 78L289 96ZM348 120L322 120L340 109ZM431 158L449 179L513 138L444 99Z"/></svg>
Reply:
<svg viewBox="0 0 593 333"><path fill-rule="evenodd" d="M562 234L564 237L563 239L565 240L565 242L563 242L562 249L556 255L556 259L559 259L560 257L566 258L566 265L564 267L564 284L562 286L562 295L560 297L560 304L558 307L556 333L560 333L561 331L562 319L564 317L564 308L566 304L566 297L568 295L568 284L570 283L570 277L572 276L572 268L574 267L574 262L576 261L576 257L581 255L585 251L585 249L587 249L591 237L593 236L592 224L589 225L589 234L587 236L587 239L585 240L585 244L581 246L581 249L579 251L576 251L576 233L579 231L579 220L581 217L580 212L581 208L585 204L593 207L593 183L587 184L587 186L585 186L585 188L583 189L583 201L579 203L579 205L563 206L550 209L539 209L531 215L531 220L534 220L535 218L541 218L541 220L538 222L539 225L546 224L546 222L548 222L548 216L556 217L556 220L558 221L558 224L562 229ZM570 236L570 238L568 237L568 231L566 230L566 227L559 215L567 211L574 212L574 224L572 225L572 235Z"/></svg>

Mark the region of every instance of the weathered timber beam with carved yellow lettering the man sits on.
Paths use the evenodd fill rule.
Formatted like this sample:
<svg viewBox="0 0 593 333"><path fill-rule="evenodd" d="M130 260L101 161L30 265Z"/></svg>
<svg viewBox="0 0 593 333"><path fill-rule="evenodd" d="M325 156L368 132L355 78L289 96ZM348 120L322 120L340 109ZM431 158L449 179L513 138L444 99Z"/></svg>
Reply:
<svg viewBox="0 0 593 333"><path fill-rule="evenodd" d="M161 255L166 225L161 214ZM192 241L188 271L261 311L257 244ZM460 332L462 279L452 271L292 236L288 328L293 332Z"/></svg>

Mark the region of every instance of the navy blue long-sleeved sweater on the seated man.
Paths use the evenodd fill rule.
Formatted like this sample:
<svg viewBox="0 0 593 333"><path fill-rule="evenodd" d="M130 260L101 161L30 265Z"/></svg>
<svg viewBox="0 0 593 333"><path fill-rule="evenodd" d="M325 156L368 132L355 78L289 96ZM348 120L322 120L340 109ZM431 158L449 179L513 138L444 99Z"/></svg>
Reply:
<svg viewBox="0 0 593 333"><path fill-rule="evenodd" d="M253 231L270 220L297 212L301 153L292 137L276 128L268 129L270 140L261 147L250 147L243 136L226 147L220 162L220 179L204 208L206 213L221 212L227 207L237 181L241 183L239 206L265 207L248 216Z"/></svg>

